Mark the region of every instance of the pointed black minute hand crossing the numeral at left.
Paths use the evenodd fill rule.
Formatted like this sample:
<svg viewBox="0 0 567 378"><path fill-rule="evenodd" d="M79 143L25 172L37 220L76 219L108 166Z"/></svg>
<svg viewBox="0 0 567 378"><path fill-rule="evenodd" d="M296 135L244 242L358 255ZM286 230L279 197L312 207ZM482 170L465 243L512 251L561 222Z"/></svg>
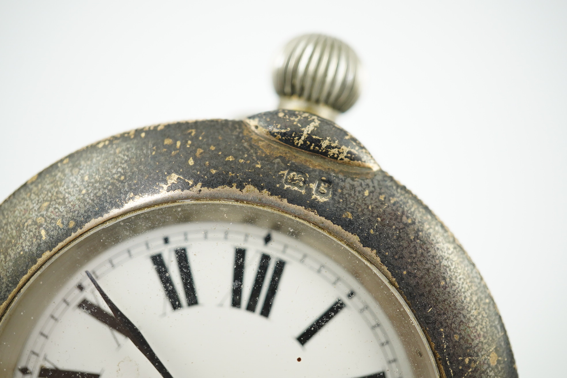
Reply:
<svg viewBox="0 0 567 378"><path fill-rule="evenodd" d="M170 372L167 371L166 367L163 366L163 363L159 360L158 356L155 355L155 352L151 349L149 343L147 343L146 339L143 337L142 333L139 329L130 321L129 318L124 315L122 311L113 303L113 301L108 298L108 295L100 288L99 283L96 282L95 278L89 273L88 270L85 271L87 273L88 278L92 281L92 284L95 285L96 290L98 290L101 297L103 297L104 301L111 309L112 313L116 317L116 320L119 321L122 329L124 330L124 334L132 340L134 345L146 356L146 358L151 362L151 364L156 368L156 370L162 375L163 378L173 378Z"/></svg>

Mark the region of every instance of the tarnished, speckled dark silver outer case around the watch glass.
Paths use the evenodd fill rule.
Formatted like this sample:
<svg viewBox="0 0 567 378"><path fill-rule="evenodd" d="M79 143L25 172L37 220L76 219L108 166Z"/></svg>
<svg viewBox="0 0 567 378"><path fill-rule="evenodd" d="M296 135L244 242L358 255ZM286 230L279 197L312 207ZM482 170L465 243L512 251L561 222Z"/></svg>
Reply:
<svg viewBox="0 0 567 378"><path fill-rule="evenodd" d="M454 236L363 148L337 160L298 150L297 135L278 142L270 127L301 131L321 121L281 113L133 130L30 179L0 205L0 313L41 264L105 220L155 203L235 199L297 215L359 250L411 307L442 376L517 377L496 305ZM311 141L358 143L341 144L342 129L311 129Z"/></svg>

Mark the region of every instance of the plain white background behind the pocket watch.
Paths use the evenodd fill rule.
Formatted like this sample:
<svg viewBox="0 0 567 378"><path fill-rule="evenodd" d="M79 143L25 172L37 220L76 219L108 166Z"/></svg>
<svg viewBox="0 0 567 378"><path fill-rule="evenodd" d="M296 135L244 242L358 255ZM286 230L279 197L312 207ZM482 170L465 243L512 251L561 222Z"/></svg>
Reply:
<svg viewBox="0 0 567 378"><path fill-rule="evenodd" d="M288 39L353 46L338 123L455 233L523 377L562 376L567 305L567 2L0 1L0 198L140 126L273 109Z"/></svg>

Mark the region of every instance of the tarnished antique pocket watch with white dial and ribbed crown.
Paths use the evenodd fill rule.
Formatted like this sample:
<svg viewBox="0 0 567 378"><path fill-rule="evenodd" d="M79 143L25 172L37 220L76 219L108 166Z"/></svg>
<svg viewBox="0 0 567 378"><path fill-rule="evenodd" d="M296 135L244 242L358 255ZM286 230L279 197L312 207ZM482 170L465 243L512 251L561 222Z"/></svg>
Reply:
<svg viewBox="0 0 567 378"><path fill-rule="evenodd" d="M0 206L0 376L517 377L455 237L333 122L359 93L304 35L276 111L84 147Z"/></svg>

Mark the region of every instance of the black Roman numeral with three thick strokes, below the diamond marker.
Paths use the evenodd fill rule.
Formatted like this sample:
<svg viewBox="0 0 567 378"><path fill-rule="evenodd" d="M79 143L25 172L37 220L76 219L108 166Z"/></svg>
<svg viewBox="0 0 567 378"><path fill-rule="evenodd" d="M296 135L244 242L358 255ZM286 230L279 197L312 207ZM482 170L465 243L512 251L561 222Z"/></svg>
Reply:
<svg viewBox="0 0 567 378"><path fill-rule="evenodd" d="M236 248L234 254L234 274L232 275L232 307L240 308L242 305L242 282L244 279L244 257L246 256L246 249ZM252 285L252 290L250 292L250 297L248 298L248 304L246 306L247 311L256 312L258 302L260 301L260 294L262 287L264 286L264 281L266 278L266 273L268 272L268 266L270 265L271 257L268 254L262 253L260 256L260 264L256 270L256 278ZM268 317L270 311L272 310L272 304L274 303L274 298L278 291L278 286L280 284L280 279L282 273L284 273L285 261L277 260L274 266L274 271L272 273L272 278L268 285L268 291L266 291L264 304L260 310L260 315Z"/></svg>

